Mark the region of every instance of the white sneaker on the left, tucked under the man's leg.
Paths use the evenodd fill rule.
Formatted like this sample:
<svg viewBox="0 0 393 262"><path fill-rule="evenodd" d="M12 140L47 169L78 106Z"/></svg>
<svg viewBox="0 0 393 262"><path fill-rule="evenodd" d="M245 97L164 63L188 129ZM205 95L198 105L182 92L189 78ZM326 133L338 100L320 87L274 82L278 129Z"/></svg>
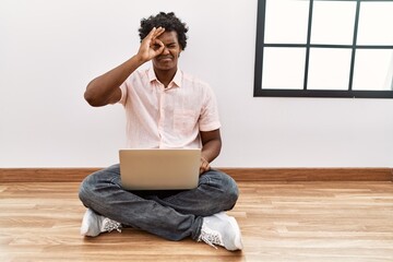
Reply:
<svg viewBox="0 0 393 262"><path fill-rule="evenodd" d="M102 233L110 233L114 229L121 233L121 224L116 221L109 219L108 217L98 215L91 209L87 209L82 221L82 236L96 237Z"/></svg>

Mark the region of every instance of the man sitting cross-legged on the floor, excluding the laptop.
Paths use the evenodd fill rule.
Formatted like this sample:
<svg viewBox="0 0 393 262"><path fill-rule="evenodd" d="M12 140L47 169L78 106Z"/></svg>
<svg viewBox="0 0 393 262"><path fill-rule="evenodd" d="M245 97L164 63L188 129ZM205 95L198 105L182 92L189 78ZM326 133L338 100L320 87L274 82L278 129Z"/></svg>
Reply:
<svg viewBox="0 0 393 262"><path fill-rule="evenodd" d="M214 94L207 84L178 69L187 32L174 13L160 12L142 20L136 55L94 79L84 96L92 106L124 106L130 147L202 147L198 188L133 192L122 189L119 165L94 172L80 189L80 199L87 207L83 236L129 226L169 240L191 237L213 247L242 249L236 219L224 213L238 199L237 184L210 167L222 146ZM147 61L153 69L136 70Z"/></svg>

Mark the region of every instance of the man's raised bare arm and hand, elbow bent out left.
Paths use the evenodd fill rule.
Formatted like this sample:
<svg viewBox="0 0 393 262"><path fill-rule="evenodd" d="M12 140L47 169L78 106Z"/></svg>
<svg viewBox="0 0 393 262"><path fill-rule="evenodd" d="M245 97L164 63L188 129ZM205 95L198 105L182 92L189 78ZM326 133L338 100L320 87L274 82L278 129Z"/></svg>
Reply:
<svg viewBox="0 0 393 262"><path fill-rule="evenodd" d="M84 93L86 102L91 106L98 107L120 100L121 91L119 86L127 78L143 63L163 52L164 44L158 40L157 37L162 35L164 31L165 28L163 27L154 27L142 40L135 56L90 82Z"/></svg>

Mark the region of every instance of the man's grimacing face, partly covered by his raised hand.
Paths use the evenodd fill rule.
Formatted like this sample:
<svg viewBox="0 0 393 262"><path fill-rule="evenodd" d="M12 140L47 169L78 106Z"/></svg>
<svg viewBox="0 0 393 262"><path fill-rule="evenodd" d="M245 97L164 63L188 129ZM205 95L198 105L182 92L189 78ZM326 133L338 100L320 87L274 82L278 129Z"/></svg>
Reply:
<svg viewBox="0 0 393 262"><path fill-rule="evenodd" d="M163 41L164 51L153 59L153 66L158 70L176 70L181 47L176 31L164 32L157 37Z"/></svg>

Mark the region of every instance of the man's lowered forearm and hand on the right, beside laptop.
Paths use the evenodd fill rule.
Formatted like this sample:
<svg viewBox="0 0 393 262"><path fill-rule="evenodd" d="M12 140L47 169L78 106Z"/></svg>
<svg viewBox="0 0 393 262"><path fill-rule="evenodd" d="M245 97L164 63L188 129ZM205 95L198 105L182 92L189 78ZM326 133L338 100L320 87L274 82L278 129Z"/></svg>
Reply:
<svg viewBox="0 0 393 262"><path fill-rule="evenodd" d="M213 162L221 152L222 139L219 129L200 132L202 140L201 167L200 174L210 170L210 163Z"/></svg>

